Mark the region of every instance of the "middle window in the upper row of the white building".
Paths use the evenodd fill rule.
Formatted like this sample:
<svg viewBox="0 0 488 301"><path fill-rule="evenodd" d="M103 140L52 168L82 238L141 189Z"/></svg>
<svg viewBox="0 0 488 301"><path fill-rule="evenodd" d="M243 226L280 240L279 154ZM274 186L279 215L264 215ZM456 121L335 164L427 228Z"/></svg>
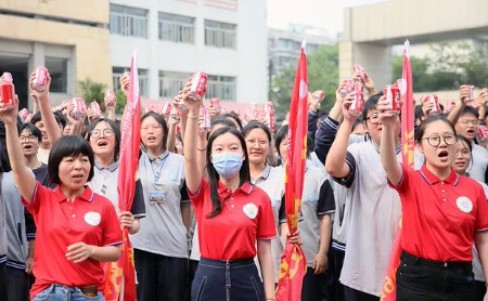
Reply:
<svg viewBox="0 0 488 301"><path fill-rule="evenodd" d="M176 43L195 43L195 18L159 13L159 39Z"/></svg>

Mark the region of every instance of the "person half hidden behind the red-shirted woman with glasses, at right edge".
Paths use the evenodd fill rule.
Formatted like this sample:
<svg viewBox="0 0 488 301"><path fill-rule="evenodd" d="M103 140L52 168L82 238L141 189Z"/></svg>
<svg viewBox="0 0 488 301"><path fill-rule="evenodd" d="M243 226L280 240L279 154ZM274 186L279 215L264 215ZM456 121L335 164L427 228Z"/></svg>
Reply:
<svg viewBox="0 0 488 301"><path fill-rule="evenodd" d="M470 176L467 173L467 168L470 165L472 165L473 161L473 148L470 141L463 136L458 135L458 153L455 154L455 160L452 162L452 168L454 171L464 176ZM483 189L485 192L485 196L488 198L488 186L479 182L478 183L483 186ZM486 278L483 274L483 267L481 263L479 262L478 251L476 250L476 247L473 246L473 273L475 278L475 286L476 286L476 301L483 301L485 295L486 295Z"/></svg>

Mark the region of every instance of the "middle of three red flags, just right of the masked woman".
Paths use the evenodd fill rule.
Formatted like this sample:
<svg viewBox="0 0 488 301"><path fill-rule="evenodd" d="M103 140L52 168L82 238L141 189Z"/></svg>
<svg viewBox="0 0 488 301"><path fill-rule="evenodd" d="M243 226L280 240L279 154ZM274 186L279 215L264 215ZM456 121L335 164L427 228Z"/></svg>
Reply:
<svg viewBox="0 0 488 301"><path fill-rule="evenodd" d="M290 106L290 130L287 136L287 160L285 165L285 208L290 233L298 228L298 218L304 191L305 159L307 150L307 114L308 114L308 79L305 41L293 87ZM301 296L301 284L307 271L307 261L300 246L286 241L281 257L280 278L277 300L298 301Z"/></svg>

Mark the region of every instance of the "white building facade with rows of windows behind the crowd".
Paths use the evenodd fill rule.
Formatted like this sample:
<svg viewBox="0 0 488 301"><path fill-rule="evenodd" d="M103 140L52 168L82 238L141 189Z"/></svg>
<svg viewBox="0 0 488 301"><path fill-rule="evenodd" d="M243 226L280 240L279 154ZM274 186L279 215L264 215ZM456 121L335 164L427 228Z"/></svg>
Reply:
<svg viewBox="0 0 488 301"><path fill-rule="evenodd" d="M196 70L207 99L265 102L268 91L266 1L112 0L113 86L139 51L141 95L172 100Z"/></svg>

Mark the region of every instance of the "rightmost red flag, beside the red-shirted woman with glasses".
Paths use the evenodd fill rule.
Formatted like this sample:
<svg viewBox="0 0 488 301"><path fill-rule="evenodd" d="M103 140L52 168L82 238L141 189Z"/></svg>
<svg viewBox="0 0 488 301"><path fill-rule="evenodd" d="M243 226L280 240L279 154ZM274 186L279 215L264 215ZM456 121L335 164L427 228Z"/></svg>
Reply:
<svg viewBox="0 0 488 301"><path fill-rule="evenodd" d="M414 104L413 104L413 87L412 87L412 66L410 64L410 42L404 42L403 50L403 71L399 87L401 91L401 160L403 166L413 168L413 122L414 122ZM401 220L398 225L395 243L389 257L388 269L386 270L385 284L382 291L382 301L395 301L397 297L397 269L400 265L401 254Z"/></svg>

